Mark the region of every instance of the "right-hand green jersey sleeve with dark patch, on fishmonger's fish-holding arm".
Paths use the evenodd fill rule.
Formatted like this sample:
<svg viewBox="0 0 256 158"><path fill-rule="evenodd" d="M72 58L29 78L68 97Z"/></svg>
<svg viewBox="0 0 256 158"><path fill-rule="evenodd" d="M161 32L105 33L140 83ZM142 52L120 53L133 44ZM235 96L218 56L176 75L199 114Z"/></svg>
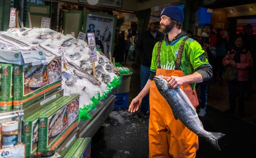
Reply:
<svg viewBox="0 0 256 158"><path fill-rule="evenodd" d="M188 55L194 70L201 65L209 64L206 53L202 49L201 45L196 41L190 44L188 48Z"/></svg>

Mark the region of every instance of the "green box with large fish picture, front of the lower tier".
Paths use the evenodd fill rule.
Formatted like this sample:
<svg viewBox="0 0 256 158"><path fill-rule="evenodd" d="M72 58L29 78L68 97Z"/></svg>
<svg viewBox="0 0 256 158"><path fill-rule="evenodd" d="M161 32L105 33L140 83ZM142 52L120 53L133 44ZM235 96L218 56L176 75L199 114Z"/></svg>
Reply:
<svg viewBox="0 0 256 158"><path fill-rule="evenodd" d="M39 117L38 152L52 150L78 125L79 94L73 94Z"/></svg>

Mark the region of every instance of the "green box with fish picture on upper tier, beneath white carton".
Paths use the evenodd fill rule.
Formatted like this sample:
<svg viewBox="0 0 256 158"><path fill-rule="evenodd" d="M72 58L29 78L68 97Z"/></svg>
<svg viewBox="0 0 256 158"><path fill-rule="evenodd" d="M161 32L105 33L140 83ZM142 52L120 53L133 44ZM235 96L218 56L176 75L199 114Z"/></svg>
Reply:
<svg viewBox="0 0 256 158"><path fill-rule="evenodd" d="M14 65L14 109L36 102L61 86L61 56L47 64Z"/></svg>

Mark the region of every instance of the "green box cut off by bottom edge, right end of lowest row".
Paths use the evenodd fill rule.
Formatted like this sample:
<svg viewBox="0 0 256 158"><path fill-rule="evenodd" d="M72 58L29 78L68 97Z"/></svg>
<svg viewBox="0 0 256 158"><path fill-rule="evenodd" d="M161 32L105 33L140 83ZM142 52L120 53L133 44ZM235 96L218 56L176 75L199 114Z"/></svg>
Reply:
<svg viewBox="0 0 256 158"><path fill-rule="evenodd" d="M91 138L85 138L72 158L91 158Z"/></svg>

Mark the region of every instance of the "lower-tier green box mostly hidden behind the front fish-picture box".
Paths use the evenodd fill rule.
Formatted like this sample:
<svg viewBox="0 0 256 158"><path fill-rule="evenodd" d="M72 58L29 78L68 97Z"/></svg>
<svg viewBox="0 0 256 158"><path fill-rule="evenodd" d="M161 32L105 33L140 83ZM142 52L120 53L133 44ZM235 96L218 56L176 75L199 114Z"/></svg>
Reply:
<svg viewBox="0 0 256 158"><path fill-rule="evenodd" d="M52 103L45 104L40 110L22 121L22 143L25 144L26 156L37 153L39 116L67 98L68 96L61 96Z"/></svg>

